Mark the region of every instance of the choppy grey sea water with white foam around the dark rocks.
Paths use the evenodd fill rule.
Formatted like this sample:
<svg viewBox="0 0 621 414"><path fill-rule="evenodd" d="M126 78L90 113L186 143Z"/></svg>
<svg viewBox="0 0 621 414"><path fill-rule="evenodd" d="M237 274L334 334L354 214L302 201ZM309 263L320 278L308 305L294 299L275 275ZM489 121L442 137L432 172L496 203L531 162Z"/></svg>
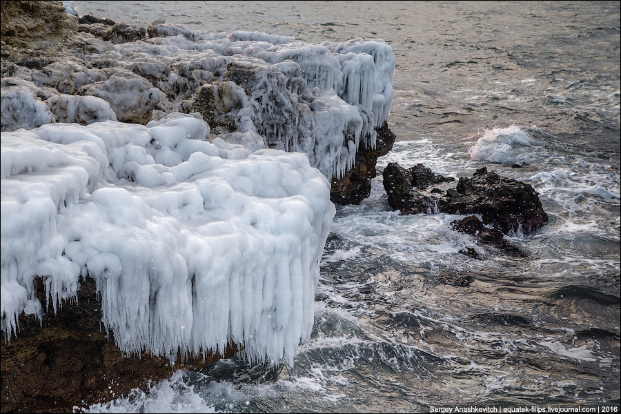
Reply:
<svg viewBox="0 0 621 414"><path fill-rule="evenodd" d="M397 57L378 162L531 184L549 223L506 257L457 215L390 211L381 175L337 208L313 338L295 366L222 360L106 412L410 412L432 406L620 403L618 2L80 1L145 26L257 30L320 43L382 38ZM509 168L519 163L524 168ZM482 260L459 253L474 247ZM446 284L469 277L469 286Z"/></svg>

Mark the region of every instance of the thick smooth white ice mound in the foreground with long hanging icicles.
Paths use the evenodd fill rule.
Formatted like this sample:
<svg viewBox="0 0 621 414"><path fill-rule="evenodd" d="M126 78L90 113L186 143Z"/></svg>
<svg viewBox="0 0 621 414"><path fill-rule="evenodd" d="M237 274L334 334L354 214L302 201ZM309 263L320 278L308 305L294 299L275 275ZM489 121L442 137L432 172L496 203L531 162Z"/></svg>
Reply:
<svg viewBox="0 0 621 414"><path fill-rule="evenodd" d="M210 141L211 140L211 141ZM210 138L190 115L1 134L1 328L95 278L125 353L175 359L242 346L293 364L313 326L335 208L300 153Z"/></svg>

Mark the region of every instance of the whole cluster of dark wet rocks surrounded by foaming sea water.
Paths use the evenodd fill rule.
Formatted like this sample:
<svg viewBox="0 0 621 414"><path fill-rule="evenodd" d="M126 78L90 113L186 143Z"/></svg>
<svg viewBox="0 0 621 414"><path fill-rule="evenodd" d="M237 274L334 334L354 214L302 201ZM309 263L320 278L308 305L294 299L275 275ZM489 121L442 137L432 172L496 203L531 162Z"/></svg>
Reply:
<svg viewBox="0 0 621 414"><path fill-rule="evenodd" d="M403 168L390 163L383 172L388 204L402 214L448 213L464 215L453 221L453 230L475 237L506 255L524 257L519 248L507 242L504 235L529 235L544 226L548 215L530 184L502 177L479 168L471 178L435 175L417 164ZM481 215L479 219L476 215ZM491 225L493 228L487 228ZM460 252L480 258L474 248Z"/></svg>

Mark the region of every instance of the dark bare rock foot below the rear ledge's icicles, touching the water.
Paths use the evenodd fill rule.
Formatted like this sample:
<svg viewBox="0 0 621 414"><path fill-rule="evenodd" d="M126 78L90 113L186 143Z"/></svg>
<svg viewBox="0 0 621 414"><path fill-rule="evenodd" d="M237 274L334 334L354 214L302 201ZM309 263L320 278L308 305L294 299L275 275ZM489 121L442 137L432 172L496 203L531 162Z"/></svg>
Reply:
<svg viewBox="0 0 621 414"><path fill-rule="evenodd" d="M381 128L375 128L375 132L377 133L375 148L359 149L353 168L347 170L340 179L332 179L330 199L334 204L360 204L371 194L371 179L377 175L375 170L377 158L388 154L393 149L396 139L387 123Z"/></svg>

